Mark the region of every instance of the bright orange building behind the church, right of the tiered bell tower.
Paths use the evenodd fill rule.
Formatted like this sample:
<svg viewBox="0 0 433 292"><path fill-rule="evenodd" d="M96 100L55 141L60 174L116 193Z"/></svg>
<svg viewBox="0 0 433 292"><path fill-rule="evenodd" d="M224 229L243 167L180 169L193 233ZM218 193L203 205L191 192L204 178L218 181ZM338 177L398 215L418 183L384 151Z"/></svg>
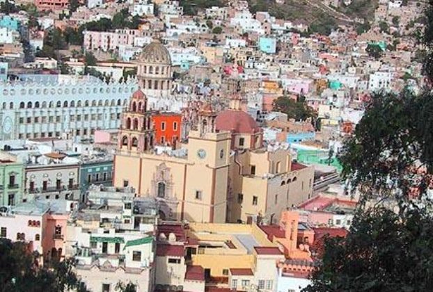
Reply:
<svg viewBox="0 0 433 292"><path fill-rule="evenodd" d="M152 115L155 127L155 144L175 146L180 140L182 115L178 113L155 113Z"/></svg>

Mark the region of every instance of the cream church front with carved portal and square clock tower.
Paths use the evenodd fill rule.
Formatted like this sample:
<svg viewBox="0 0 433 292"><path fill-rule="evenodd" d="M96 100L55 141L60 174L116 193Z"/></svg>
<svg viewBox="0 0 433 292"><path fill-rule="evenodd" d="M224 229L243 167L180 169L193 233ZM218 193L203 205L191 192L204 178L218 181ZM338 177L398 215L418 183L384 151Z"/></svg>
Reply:
<svg viewBox="0 0 433 292"><path fill-rule="evenodd" d="M116 154L115 186L157 197L162 216L193 222L226 222L230 133L190 131L187 156Z"/></svg>

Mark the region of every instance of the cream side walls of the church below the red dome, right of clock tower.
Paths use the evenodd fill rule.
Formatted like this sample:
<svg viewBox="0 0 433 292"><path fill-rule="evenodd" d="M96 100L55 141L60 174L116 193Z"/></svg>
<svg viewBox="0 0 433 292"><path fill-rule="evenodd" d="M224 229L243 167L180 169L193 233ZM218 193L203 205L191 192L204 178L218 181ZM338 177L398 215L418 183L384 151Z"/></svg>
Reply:
<svg viewBox="0 0 433 292"><path fill-rule="evenodd" d="M229 222L273 223L281 211L313 194L314 169L292 170L286 149L235 152L230 161Z"/></svg>

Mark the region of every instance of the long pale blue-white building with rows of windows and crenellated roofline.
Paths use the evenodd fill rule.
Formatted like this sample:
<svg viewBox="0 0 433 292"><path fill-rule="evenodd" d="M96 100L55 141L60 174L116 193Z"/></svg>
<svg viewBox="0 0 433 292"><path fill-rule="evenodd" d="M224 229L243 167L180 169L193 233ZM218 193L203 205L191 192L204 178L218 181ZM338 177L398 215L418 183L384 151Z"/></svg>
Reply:
<svg viewBox="0 0 433 292"><path fill-rule="evenodd" d="M94 76L36 74L0 82L0 139L86 137L118 128L137 88L135 79L107 84Z"/></svg>

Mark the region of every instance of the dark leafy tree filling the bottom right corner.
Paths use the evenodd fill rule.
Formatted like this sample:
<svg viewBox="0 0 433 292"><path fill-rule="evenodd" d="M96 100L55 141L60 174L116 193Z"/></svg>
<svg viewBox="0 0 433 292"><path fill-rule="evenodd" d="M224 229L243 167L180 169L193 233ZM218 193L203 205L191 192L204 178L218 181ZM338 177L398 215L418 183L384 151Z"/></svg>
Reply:
<svg viewBox="0 0 433 292"><path fill-rule="evenodd" d="M430 210L415 204L400 213L359 211L346 238L325 240L313 284L303 291L432 291L432 232Z"/></svg>

